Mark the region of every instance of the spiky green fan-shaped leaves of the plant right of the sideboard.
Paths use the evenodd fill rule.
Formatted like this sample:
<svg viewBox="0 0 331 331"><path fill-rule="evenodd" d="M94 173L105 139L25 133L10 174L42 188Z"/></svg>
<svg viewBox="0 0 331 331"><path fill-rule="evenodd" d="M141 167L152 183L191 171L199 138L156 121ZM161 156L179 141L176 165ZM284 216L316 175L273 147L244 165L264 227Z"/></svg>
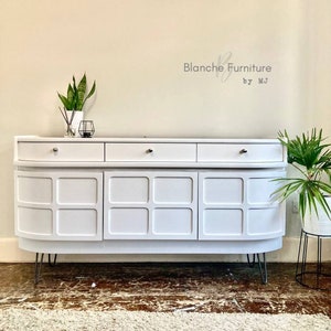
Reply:
<svg viewBox="0 0 331 331"><path fill-rule="evenodd" d="M308 212L318 215L319 207L331 220L331 207L325 200L325 195L331 194L331 145L324 142L322 129L314 128L292 139L285 130L278 134L278 139L287 148L288 163L297 170L298 177L276 179L281 184L273 196L285 201L298 194L302 222Z"/></svg>

